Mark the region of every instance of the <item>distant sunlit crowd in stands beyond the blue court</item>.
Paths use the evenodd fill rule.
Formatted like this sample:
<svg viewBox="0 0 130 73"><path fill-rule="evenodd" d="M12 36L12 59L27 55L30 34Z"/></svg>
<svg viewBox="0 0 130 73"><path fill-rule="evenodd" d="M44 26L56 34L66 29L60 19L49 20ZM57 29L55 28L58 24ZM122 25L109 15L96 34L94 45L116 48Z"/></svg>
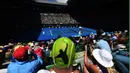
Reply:
<svg viewBox="0 0 130 73"><path fill-rule="evenodd" d="M78 24L69 14L41 13L42 24Z"/></svg>

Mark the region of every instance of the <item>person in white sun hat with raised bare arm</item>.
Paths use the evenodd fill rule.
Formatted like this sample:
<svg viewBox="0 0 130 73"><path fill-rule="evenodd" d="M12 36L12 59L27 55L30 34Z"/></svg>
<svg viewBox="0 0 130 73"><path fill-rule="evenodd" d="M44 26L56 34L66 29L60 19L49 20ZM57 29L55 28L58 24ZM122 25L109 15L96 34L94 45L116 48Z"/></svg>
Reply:
<svg viewBox="0 0 130 73"><path fill-rule="evenodd" d="M92 62L90 63L88 59L87 51L85 51L83 67L85 73L118 73L112 68L114 63L111 53L104 49L94 49L90 58Z"/></svg>

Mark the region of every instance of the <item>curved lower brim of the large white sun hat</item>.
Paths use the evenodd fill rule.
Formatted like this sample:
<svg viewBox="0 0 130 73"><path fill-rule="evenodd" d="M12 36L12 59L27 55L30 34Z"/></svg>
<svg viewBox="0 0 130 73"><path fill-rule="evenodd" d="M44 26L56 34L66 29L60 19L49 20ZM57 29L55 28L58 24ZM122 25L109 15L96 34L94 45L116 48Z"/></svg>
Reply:
<svg viewBox="0 0 130 73"><path fill-rule="evenodd" d="M100 55L100 49L95 49L92 52L94 58L98 61L99 64L101 64L104 67L112 67L114 65L113 61L107 61L103 58L101 58Z"/></svg>

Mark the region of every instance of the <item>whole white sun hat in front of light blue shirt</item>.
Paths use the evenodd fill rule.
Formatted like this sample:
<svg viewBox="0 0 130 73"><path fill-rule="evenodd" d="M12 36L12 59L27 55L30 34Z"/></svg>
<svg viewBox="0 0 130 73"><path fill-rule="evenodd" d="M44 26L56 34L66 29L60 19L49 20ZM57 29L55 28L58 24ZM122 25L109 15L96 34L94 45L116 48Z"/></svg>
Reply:
<svg viewBox="0 0 130 73"><path fill-rule="evenodd" d="M94 49L92 52L94 58L104 67L112 67L114 65L111 53L104 49Z"/></svg>

